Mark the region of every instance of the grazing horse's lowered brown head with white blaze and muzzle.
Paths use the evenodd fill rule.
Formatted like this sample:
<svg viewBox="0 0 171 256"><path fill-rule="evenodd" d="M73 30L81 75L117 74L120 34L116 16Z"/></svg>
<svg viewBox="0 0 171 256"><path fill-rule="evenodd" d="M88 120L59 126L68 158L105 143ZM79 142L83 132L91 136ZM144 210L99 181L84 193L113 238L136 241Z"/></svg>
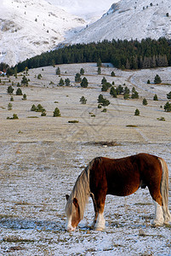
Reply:
<svg viewBox="0 0 171 256"><path fill-rule="evenodd" d="M70 199L69 195L66 195L66 230L74 231L76 230L77 224L80 222L80 209L77 198ZM70 201L70 202L69 202ZM68 209L70 208L70 209Z"/></svg>

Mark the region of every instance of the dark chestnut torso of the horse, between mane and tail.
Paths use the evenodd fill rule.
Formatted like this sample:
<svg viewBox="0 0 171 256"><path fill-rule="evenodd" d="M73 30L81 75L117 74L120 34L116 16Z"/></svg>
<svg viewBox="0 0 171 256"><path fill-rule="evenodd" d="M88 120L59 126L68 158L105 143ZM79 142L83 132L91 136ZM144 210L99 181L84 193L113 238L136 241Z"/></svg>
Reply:
<svg viewBox="0 0 171 256"><path fill-rule="evenodd" d="M107 187L107 194L131 195L140 187L161 180L162 172L157 156L135 154L121 159L97 158L94 168L96 186Z"/></svg>

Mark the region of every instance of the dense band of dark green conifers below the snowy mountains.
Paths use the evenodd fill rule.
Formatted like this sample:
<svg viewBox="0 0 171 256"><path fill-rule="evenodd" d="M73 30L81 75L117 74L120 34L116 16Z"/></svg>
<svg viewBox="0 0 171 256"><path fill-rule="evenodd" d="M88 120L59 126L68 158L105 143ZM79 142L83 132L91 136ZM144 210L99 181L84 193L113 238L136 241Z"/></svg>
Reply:
<svg viewBox="0 0 171 256"><path fill-rule="evenodd" d="M57 64L111 62L122 69L140 69L171 66L171 39L157 40L104 40L99 43L73 44L18 63L8 73L22 72L27 68L54 66Z"/></svg>

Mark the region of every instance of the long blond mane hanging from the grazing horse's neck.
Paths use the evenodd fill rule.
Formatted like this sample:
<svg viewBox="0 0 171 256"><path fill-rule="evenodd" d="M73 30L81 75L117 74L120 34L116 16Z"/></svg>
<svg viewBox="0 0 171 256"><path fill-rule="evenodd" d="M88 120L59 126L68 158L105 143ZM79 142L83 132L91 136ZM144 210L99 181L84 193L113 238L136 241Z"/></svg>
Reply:
<svg viewBox="0 0 171 256"><path fill-rule="evenodd" d="M88 196L90 194L89 189L89 171L94 164L94 160L92 160L88 166L83 170L83 172L77 177L77 181L71 191L71 195L68 198L66 203L66 216L71 216L72 207L73 207L73 199L77 198L79 204L80 218L83 218L83 213L85 210L85 206L88 202Z"/></svg>

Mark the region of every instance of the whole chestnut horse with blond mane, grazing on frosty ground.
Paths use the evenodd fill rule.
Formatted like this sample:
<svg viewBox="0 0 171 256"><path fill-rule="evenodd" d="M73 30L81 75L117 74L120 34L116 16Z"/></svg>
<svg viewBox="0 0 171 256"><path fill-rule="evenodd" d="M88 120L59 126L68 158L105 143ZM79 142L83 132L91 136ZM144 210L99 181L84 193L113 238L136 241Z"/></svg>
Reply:
<svg viewBox="0 0 171 256"><path fill-rule="evenodd" d="M103 230L105 196L131 195L146 186L155 205L152 224L168 224L168 166L162 158L143 153L121 159L94 158L77 177L71 195L66 195L66 230L75 230L83 219L89 195L94 202L94 228Z"/></svg>

